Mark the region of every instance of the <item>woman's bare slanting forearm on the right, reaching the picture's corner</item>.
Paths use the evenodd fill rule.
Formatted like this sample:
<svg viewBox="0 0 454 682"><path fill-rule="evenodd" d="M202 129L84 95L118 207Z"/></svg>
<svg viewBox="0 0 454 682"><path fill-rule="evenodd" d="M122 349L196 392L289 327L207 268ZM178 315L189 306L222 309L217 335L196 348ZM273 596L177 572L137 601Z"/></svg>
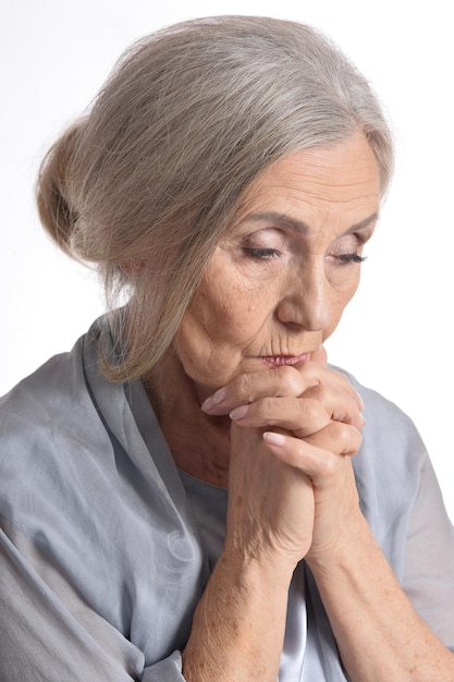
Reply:
<svg viewBox="0 0 454 682"><path fill-rule="evenodd" d="M363 516L348 543L323 559L309 552L308 563L353 682L454 680L454 655L419 619Z"/></svg>

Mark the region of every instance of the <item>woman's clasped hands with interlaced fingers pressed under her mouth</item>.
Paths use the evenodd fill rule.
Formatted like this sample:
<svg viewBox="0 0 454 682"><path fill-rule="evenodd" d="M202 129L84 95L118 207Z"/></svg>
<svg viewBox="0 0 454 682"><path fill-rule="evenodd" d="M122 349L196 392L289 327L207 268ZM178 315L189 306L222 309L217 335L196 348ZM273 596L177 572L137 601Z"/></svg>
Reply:
<svg viewBox="0 0 454 682"><path fill-rule="evenodd" d="M359 513L351 458L363 402L324 351L316 360L241 375L203 405L232 419L230 551L289 565L323 560Z"/></svg>

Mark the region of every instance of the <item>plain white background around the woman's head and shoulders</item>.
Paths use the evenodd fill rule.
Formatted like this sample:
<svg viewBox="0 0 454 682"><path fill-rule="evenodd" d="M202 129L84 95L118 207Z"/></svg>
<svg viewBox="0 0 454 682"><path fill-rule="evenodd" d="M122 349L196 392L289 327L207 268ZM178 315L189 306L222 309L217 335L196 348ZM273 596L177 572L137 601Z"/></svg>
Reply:
<svg viewBox="0 0 454 682"><path fill-rule="evenodd" d="M96 277L41 232L33 192L49 144L89 103L123 49L163 25L208 14L307 22L370 80L398 148L361 287L328 343L329 358L414 418L454 519L449 8L445 0L0 0L0 394L71 348L103 309Z"/></svg>

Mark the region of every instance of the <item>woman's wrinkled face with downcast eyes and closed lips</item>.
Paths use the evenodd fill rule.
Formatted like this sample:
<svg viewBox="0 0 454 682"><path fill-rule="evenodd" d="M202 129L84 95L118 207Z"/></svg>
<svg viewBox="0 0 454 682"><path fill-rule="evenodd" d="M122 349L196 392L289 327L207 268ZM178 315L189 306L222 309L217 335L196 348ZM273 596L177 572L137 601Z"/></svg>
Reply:
<svg viewBox="0 0 454 682"><path fill-rule="evenodd" d="M201 398L320 349L358 285L379 199L363 135L292 153L251 183L174 342Z"/></svg>

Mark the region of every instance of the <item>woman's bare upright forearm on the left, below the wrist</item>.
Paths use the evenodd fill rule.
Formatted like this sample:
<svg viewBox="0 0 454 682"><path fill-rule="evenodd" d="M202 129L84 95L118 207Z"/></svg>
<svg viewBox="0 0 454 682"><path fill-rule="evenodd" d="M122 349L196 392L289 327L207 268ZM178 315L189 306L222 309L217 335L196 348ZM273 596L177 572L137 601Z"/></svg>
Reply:
<svg viewBox="0 0 454 682"><path fill-rule="evenodd" d="M221 556L183 651L188 682L275 682L292 570Z"/></svg>

